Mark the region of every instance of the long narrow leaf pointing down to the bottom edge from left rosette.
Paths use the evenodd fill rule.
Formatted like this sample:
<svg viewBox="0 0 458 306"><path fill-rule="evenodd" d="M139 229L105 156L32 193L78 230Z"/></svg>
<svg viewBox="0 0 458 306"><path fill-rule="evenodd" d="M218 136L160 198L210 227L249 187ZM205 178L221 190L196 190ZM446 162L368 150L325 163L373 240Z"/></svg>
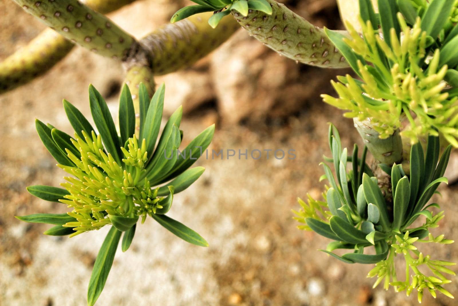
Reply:
<svg viewBox="0 0 458 306"><path fill-rule="evenodd" d="M89 287L87 289L87 305L93 306L98 299L100 293L104 289L105 282L108 278L111 265L113 264L114 254L118 247L121 232L115 227L111 227L108 232L104 243L98 251L97 258L89 280Z"/></svg>

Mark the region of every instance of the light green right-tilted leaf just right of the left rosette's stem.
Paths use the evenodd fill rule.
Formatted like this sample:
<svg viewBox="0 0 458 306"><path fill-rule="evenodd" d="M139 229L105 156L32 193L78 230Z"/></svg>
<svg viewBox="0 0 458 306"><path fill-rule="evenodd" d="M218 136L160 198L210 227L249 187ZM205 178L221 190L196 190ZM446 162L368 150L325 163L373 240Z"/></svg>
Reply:
<svg viewBox="0 0 458 306"><path fill-rule="evenodd" d="M165 84L162 83L153 95L148 107L143 128L140 129L140 140L146 139L148 157L151 158L154 153L154 145L158 139L159 129L161 127L162 112L164 109ZM174 117L172 115L172 117ZM172 119L170 117L170 119ZM169 119L169 122L170 122ZM181 116L180 116L181 119ZM167 122L168 123L168 122ZM180 123L177 124L178 126ZM172 124L173 127L173 124ZM167 128L167 126L166 126ZM165 131L165 128L164 128ZM164 134L164 133L163 133ZM168 135L167 137L169 137ZM162 137L161 137L162 138ZM161 145L161 143L159 143Z"/></svg>

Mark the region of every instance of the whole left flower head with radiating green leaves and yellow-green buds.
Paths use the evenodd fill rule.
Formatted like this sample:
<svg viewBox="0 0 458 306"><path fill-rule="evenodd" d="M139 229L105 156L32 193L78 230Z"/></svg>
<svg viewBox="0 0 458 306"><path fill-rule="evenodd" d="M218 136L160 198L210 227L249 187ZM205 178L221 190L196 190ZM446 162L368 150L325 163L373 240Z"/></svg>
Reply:
<svg viewBox="0 0 458 306"><path fill-rule="evenodd" d="M93 305L104 288L114 255L123 234L121 249L131 245L139 219L147 217L181 239L200 246L207 241L184 224L167 217L174 195L196 181L203 167L191 165L210 144L214 125L205 129L178 157L183 131L182 107L169 118L159 136L164 106L164 85L150 100L146 86L140 84L140 125L135 131L135 111L131 93L124 86L119 107L119 129L105 100L89 86L91 113L98 134L82 113L64 100L64 109L75 133L66 134L50 124L36 120L36 128L46 149L69 174L63 188L36 185L27 190L43 200L61 202L71 208L63 214L39 213L17 217L26 222L47 223L47 235L70 237L109 226L110 230L95 261L87 293ZM158 144L156 145L156 140Z"/></svg>

